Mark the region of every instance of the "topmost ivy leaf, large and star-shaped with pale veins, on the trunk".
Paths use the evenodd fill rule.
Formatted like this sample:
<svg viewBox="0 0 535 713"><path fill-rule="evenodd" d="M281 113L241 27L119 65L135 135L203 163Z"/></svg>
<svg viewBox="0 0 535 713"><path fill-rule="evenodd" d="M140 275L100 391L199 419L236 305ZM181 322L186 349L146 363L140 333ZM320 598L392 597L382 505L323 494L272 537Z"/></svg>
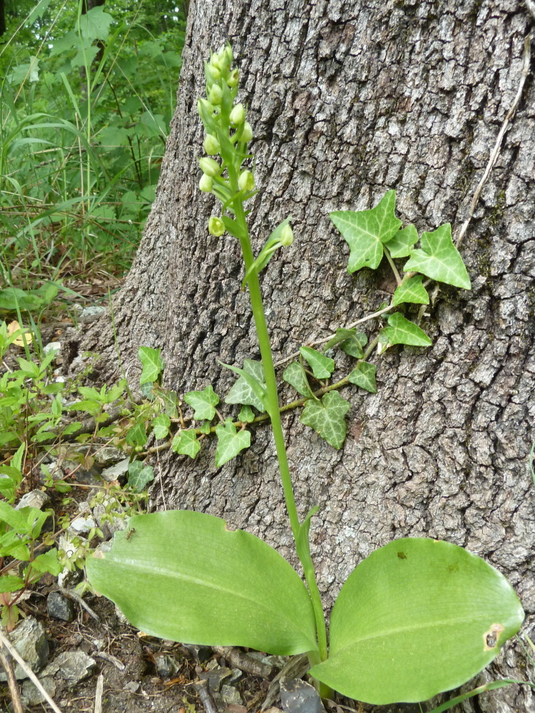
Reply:
<svg viewBox="0 0 535 713"><path fill-rule="evenodd" d="M350 246L347 272L356 272L361 267L372 267L373 270L379 267L382 244L392 240L402 226L394 214L395 202L396 192L389 190L372 210L337 210L329 214Z"/></svg>

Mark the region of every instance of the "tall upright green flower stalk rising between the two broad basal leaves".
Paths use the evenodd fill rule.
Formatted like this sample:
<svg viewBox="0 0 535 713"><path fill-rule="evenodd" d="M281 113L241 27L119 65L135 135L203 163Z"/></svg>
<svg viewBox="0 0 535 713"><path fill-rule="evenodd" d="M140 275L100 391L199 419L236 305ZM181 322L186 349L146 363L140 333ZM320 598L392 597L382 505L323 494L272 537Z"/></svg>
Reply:
<svg viewBox="0 0 535 713"><path fill-rule="evenodd" d="M234 165L228 165L228 177L230 190L236 194L239 192L238 186L238 169ZM233 210L235 212L235 220L243 230L243 235L240 237L240 245L243 253L243 262L245 264L245 272L247 273L251 265L255 261L253 248L250 243L249 230L245 210L241 200L233 202ZM240 230L240 232L241 232ZM280 419L279 395L277 390L277 379L275 376L275 366L273 365L273 356L271 352L270 335L267 332L267 324L265 322L265 312L262 300L262 292L260 290L260 280L258 273L251 270L248 277L249 297L251 309L253 310L253 319L255 320L256 333L258 336L258 345L260 347L260 356L264 367L265 386L267 389L267 413L270 415L273 438L275 439L275 448L277 449L277 459L279 462L280 478L282 481L282 490L286 501L286 510L290 519L290 527L292 535L297 545L297 538L300 530L299 515L297 514L297 506L295 505L295 496L292 486L292 476L290 475L290 466L286 453L284 434L282 432L282 421ZM315 570L313 567L307 566L307 561L312 562L310 558L310 544L307 539L307 553L304 558L300 557L300 562L305 574L310 599L312 600L312 609L314 611L317 645L320 654L320 660L327 659L327 629L325 626L325 614L320 595L320 590L317 586ZM299 556L299 551L297 551Z"/></svg>

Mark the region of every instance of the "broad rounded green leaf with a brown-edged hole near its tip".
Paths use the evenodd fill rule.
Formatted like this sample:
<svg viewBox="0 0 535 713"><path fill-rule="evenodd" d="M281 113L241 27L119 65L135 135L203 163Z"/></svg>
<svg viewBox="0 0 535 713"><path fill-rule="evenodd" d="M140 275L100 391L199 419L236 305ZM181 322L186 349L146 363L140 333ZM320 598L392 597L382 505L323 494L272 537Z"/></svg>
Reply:
<svg viewBox="0 0 535 713"><path fill-rule="evenodd" d="M311 674L373 704L457 688L519 630L503 575L458 545L393 540L355 568L332 610L330 658Z"/></svg>

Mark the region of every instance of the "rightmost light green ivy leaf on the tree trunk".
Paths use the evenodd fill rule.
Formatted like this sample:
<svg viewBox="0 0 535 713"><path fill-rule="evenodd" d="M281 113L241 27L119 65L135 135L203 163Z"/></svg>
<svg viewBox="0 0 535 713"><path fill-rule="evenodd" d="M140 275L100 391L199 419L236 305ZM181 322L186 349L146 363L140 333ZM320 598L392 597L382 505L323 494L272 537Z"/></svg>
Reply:
<svg viewBox="0 0 535 713"><path fill-rule="evenodd" d="M453 284L454 287L471 289L467 268L452 240L452 226L444 223L434 232L422 232L420 250L412 250L404 271L414 270L436 279L438 282Z"/></svg>

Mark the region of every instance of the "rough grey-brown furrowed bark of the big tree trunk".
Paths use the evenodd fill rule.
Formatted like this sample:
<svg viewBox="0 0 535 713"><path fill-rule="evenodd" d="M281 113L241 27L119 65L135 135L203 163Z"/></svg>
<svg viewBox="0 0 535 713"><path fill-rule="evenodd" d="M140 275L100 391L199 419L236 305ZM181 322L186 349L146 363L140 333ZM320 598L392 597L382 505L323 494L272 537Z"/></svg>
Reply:
<svg viewBox="0 0 535 713"><path fill-rule="evenodd" d="M196 0L158 195L114 303L133 379L140 345L163 347L165 385L183 393L233 381L218 359L258 358L239 246L209 237L213 198L197 189L203 59L230 39L250 107L257 246L294 217L296 240L270 262L263 292L275 358L367 314L394 289L389 269L347 275L330 210L369 208L390 188L404 224L467 218L514 100L533 16L519 0ZM472 292L441 288L422 326L434 346L392 349L379 393L346 389L349 435L335 451L285 416L302 515L320 504L312 549L327 604L352 568L391 538L427 535L484 556L535 614L535 87L531 74L462 243ZM117 367L108 322L83 349ZM223 468L158 461L153 505L224 515L292 558L267 429ZM532 627L532 623L531 623ZM529 631L529 626L528 626ZM512 645L489 677L526 675ZM488 713L534 709L530 690L481 697ZM473 709L473 708L472 708Z"/></svg>

